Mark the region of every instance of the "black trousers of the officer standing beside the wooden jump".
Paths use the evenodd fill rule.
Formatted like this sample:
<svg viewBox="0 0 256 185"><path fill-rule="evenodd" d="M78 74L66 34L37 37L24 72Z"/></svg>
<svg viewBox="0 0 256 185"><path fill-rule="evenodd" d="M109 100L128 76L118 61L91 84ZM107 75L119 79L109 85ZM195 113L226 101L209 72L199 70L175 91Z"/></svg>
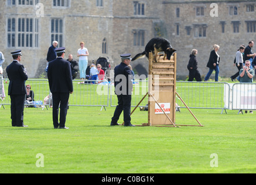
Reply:
<svg viewBox="0 0 256 185"><path fill-rule="evenodd" d="M132 95L117 95L118 105L112 117L111 123L117 123L120 114L124 110L124 124L131 124L131 100Z"/></svg>

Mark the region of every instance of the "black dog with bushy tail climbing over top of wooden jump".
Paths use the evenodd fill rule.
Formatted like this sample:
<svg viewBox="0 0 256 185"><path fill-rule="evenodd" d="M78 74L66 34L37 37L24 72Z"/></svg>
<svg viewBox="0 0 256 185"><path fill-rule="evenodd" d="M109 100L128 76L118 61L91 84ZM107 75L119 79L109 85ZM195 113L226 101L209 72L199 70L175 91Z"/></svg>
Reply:
<svg viewBox="0 0 256 185"><path fill-rule="evenodd" d="M168 60L171 59L172 53L176 51L172 49L172 46L169 40L165 38L153 38L147 43L145 47L145 51L143 51L142 53L136 54L136 56L132 58L132 61L135 61L136 59L141 58L145 55L147 58L149 58L149 52L152 52L154 54L154 47L156 47L158 52L164 51L164 53L167 55Z"/></svg>

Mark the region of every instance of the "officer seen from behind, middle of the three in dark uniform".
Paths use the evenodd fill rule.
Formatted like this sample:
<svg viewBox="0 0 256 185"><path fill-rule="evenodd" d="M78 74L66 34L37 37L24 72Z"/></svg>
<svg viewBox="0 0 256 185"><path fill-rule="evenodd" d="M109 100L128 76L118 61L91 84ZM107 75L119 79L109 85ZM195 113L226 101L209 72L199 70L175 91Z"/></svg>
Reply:
<svg viewBox="0 0 256 185"><path fill-rule="evenodd" d="M64 128L65 126L68 98L73 93L73 82L70 62L64 60L65 47L60 47L55 50L57 58L49 62L48 66L48 81L52 92L53 109L52 119L54 128ZM58 119L60 105L60 122Z"/></svg>

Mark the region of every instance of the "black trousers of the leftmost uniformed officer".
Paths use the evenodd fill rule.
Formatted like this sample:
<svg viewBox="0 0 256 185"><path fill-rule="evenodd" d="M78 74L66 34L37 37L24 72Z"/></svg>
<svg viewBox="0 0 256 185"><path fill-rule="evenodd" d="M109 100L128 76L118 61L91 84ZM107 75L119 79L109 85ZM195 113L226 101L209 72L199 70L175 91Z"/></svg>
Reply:
<svg viewBox="0 0 256 185"><path fill-rule="evenodd" d="M26 95L10 95L10 118L13 127L23 126L24 104Z"/></svg>

